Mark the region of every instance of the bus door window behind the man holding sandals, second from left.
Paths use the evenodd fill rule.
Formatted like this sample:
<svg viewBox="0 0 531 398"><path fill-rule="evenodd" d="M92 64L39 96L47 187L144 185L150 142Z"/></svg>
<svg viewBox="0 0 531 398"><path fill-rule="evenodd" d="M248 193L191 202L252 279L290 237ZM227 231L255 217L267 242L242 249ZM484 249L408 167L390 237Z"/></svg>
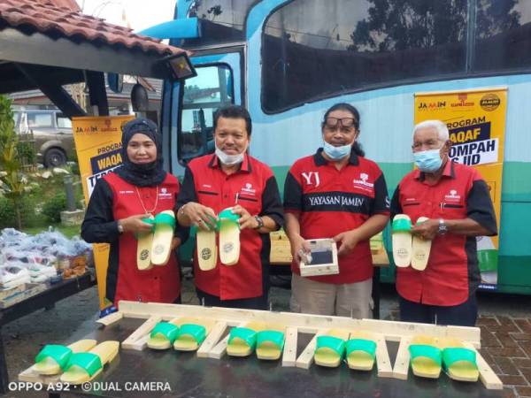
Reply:
<svg viewBox="0 0 531 398"><path fill-rule="evenodd" d="M232 71L227 65L196 67L197 76L185 80L179 159L213 152L213 115L220 107L234 103Z"/></svg>

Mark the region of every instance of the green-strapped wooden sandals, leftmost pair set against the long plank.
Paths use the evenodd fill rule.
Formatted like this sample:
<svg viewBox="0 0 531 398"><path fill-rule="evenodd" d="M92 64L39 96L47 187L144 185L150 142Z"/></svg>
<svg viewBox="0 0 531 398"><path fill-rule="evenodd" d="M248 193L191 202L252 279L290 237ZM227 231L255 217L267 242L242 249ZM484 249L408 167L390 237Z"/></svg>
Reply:
<svg viewBox="0 0 531 398"><path fill-rule="evenodd" d="M214 322L204 318L175 318L158 322L150 333L148 347L196 351L211 332Z"/></svg>

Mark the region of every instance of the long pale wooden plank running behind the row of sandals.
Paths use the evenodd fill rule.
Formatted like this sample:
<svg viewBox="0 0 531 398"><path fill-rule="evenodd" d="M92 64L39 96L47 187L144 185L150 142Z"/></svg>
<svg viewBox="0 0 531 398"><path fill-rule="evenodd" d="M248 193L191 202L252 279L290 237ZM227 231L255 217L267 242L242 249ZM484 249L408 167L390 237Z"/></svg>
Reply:
<svg viewBox="0 0 531 398"><path fill-rule="evenodd" d="M382 333L386 336L386 340L389 341L400 341L404 336L412 337L417 334L439 338L456 337L458 335L461 341L471 342L474 346L481 344L481 331L478 327L440 326L375 319L352 319L320 315L310 316L308 314L296 314L292 312L226 309L152 302L119 302L119 308L123 311L124 316L133 318L148 318L150 315L158 315L162 318L201 316L225 321L227 325L258 321L296 327L299 333L317 333L319 330L330 328L366 330L372 333Z"/></svg>

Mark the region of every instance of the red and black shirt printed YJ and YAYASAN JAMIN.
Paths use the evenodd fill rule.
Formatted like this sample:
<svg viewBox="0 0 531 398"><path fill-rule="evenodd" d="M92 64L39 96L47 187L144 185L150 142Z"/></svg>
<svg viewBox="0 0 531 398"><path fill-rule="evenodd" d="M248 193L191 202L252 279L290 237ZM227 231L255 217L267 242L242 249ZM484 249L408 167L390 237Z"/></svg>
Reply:
<svg viewBox="0 0 531 398"><path fill-rule="evenodd" d="M284 185L284 211L299 215L304 239L332 238L358 228L374 214L389 214L388 190L378 165L352 151L349 163L337 170L321 152L297 160ZM373 277L368 240L338 260L338 274L310 279L343 284ZM295 261L291 269L300 274Z"/></svg>

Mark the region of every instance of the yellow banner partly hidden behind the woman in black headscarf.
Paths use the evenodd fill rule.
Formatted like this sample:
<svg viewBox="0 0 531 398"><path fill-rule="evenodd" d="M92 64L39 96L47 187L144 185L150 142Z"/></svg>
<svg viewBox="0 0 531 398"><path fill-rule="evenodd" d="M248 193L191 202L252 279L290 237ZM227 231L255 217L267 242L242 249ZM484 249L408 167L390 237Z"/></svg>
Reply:
<svg viewBox="0 0 531 398"><path fill-rule="evenodd" d="M72 119L73 140L86 203L89 203L97 180L121 165L122 126L134 118L127 115ZM105 301L109 245L98 243L93 246L100 309L104 309L110 304Z"/></svg>

